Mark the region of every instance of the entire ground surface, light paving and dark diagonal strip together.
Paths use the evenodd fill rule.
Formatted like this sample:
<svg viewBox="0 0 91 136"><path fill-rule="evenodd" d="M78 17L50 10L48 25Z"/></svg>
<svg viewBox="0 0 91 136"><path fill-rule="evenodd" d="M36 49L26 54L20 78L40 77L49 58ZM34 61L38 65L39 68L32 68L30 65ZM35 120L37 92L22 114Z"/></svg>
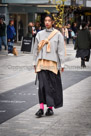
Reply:
<svg viewBox="0 0 91 136"><path fill-rule="evenodd" d="M15 46L17 57L0 52L0 136L91 136L91 60L81 68L74 45L67 45L65 72L61 74L64 106L54 109L52 117L37 119L33 55Z"/></svg>

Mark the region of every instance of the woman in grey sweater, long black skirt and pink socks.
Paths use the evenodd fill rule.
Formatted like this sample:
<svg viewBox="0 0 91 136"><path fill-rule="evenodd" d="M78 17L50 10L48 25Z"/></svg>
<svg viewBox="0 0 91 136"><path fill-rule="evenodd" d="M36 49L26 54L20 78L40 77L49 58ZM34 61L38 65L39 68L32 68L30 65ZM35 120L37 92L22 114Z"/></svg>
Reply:
<svg viewBox="0 0 91 136"><path fill-rule="evenodd" d="M61 32L52 27L52 15L46 15L44 24L46 28L36 35L33 52L33 65L39 80L40 109L35 113L36 117L44 115L44 104L48 107L46 116L54 114L53 107L63 106L60 71L64 71L64 38Z"/></svg>

